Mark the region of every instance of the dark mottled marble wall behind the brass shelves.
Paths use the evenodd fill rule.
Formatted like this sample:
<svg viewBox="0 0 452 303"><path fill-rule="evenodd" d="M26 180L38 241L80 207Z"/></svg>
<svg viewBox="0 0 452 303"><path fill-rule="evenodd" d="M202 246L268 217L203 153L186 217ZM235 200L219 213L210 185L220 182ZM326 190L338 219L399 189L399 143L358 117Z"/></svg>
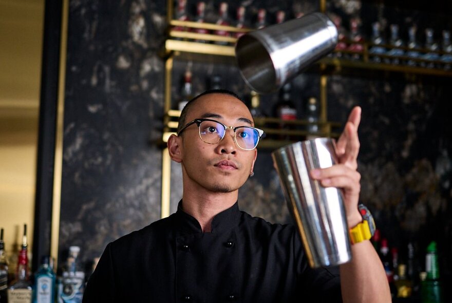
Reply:
<svg viewBox="0 0 452 303"><path fill-rule="evenodd" d="M193 4L191 1L189 3ZM240 1L230 2L231 12ZM310 12L316 1L243 2L250 18L257 8ZM217 2L207 2L209 21ZM64 159L60 227L60 260L69 245L80 245L84 262L105 245L142 228L160 216L165 38L163 0L70 1L67 53ZM363 32L384 16L408 26L429 24L451 29L440 12L399 10L372 2L331 1L329 10L361 15ZM366 16L366 17L364 17ZM400 17L402 16L402 17ZM391 19L392 18L392 19ZM175 61L173 93L177 99L187 62ZM194 63L194 90L222 74L224 87L247 94L236 67ZM420 267L430 240L437 240L443 275L452 275L452 191L450 187L452 125L448 119L450 79L402 77L328 78L328 118L345 122L354 105L363 107L360 128L361 199L389 244L416 245ZM294 81L293 99L303 116L304 102L318 96L319 77L307 73ZM276 95L262 106L271 114ZM182 194L181 171L172 164L171 210ZM272 222L290 218L272 167L270 150L259 150L256 175L239 194L240 207ZM422 268L421 268L422 269Z"/></svg>

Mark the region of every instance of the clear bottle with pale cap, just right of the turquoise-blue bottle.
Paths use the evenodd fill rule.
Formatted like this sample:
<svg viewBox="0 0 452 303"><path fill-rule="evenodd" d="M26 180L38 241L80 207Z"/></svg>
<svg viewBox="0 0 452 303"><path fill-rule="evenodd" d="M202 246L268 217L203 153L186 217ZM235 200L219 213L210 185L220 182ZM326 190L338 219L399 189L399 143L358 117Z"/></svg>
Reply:
<svg viewBox="0 0 452 303"><path fill-rule="evenodd" d="M79 270L80 247L71 246L67 258L66 271L63 272L58 300L63 303L81 303L85 287L85 273ZM61 293L60 293L61 292Z"/></svg>

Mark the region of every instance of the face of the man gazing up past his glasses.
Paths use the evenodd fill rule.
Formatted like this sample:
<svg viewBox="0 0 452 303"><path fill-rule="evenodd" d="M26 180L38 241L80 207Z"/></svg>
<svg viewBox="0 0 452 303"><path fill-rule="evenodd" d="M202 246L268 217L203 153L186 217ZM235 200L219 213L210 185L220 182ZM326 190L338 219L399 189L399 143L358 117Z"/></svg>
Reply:
<svg viewBox="0 0 452 303"><path fill-rule="evenodd" d="M206 94L195 101L185 123L197 118L214 119L226 126L252 126L253 123L243 102L221 93ZM256 149L243 150L236 145L232 129L227 129L217 144L203 142L196 124L184 130L180 148L184 188L190 190L199 186L221 193L238 190L248 179L257 156Z"/></svg>

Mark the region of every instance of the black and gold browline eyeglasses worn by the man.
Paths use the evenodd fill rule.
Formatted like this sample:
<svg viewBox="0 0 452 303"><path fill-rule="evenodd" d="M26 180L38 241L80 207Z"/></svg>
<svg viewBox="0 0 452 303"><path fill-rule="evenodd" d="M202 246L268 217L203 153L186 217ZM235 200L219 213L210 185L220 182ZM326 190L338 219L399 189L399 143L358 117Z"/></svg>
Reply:
<svg viewBox="0 0 452 303"><path fill-rule="evenodd" d="M226 130L231 128L234 131L234 141L238 147L244 150L252 150L256 148L263 130L252 126L226 126L221 122L211 119L195 119L187 123L180 131L178 136L182 134L187 127L192 124L198 125L199 138L208 144L217 144L223 140Z"/></svg>

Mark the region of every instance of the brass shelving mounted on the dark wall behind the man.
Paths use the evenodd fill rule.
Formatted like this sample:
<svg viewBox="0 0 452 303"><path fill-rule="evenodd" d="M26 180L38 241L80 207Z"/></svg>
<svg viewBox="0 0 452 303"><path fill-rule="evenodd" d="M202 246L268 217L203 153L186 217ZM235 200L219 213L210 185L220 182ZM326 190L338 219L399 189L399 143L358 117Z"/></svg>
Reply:
<svg viewBox="0 0 452 303"><path fill-rule="evenodd" d="M235 51L234 45L236 42L235 37L219 36L214 34L200 34L193 32L193 29L204 28L208 30L223 30L231 33L245 33L250 31L249 29L239 29L232 26L222 26L209 23L197 23L172 20L173 15L172 2L168 1L167 16L170 30L168 31L168 39L165 41L164 58L165 58L165 88L164 88L164 130L162 141L167 142L167 139L171 134L175 134L177 129L177 119L180 116L179 110L172 109L171 98L171 84L172 84L172 69L175 58L197 61L197 62L214 62L214 63L228 63L235 64ZM323 4L323 5L322 5ZM321 1L321 8L325 9L325 1ZM177 30L175 29L177 27ZM206 41L208 43L200 43L197 41ZM227 45L216 44L221 42ZM375 74L377 71L384 73L399 73L408 75L427 75L428 77L452 77L452 71L412 67L406 65L393 65L384 63L373 63L369 60L369 49L371 44L363 43L363 52L360 53L359 60L348 60L337 58L334 53L324 59L319 60L311 70L319 72L320 74L320 96L319 101L321 104L321 112L319 115L319 122L315 123L321 129L318 135L322 137L338 137L339 128L342 127L341 123L328 122L327 121L327 81L330 74L346 74L347 71L353 71L358 73L370 73ZM385 46L383 46L385 47ZM389 47L389 46L387 46ZM349 51L341 51L345 56L352 55ZM426 50L419 50L420 53L425 53ZM388 58L386 55L379 55L382 59ZM394 59L394 57L390 57ZM401 62L405 62L408 58L400 57ZM417 62L422 62L422 59L415 59ZM439 62L434 62L439 64ZM266 134L273 138L278 138L278 135L287 135L291 138L302 139L306 137L306 130L286 130L279 129L280 124L295 124L301 126L307 126L309 122L303 120L295 121L281 121L276 118L258 118L255 119L257 127L262 128ZM264 139L259 142L259 148L277 148L287 145L293 141L279 140L279 139ZM161 217L167 217L170 215L170 183L171 183L171 159L168 155L167 148L162 150L162 211Z"/></svg>

